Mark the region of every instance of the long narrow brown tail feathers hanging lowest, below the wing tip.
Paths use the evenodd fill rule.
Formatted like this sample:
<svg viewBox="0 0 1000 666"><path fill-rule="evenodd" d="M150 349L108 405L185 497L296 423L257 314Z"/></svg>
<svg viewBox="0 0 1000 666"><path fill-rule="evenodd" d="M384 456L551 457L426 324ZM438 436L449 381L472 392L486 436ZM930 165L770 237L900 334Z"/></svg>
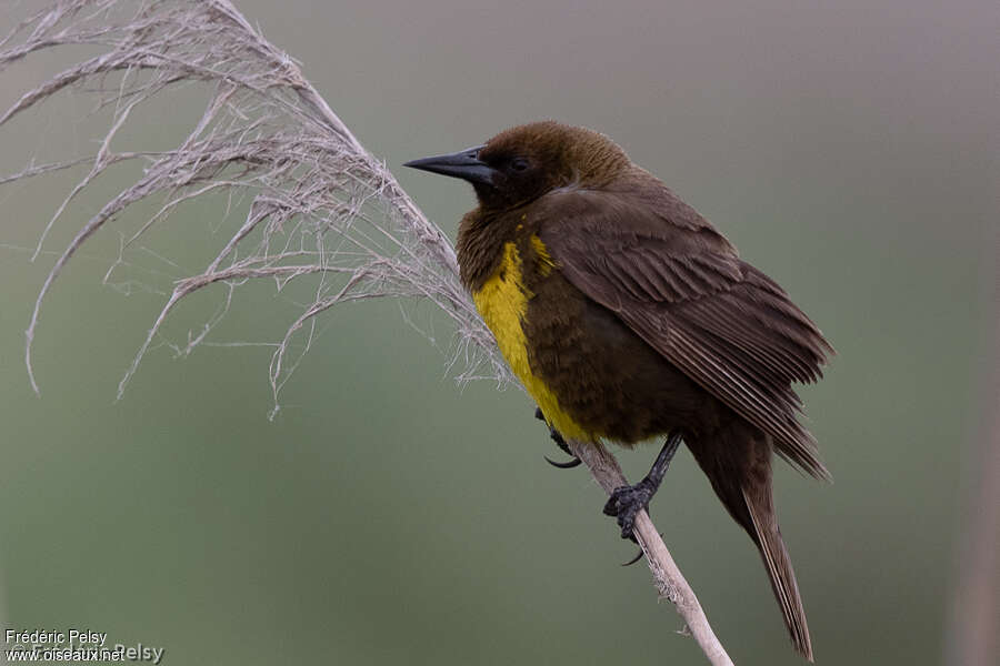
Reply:
<svg viewBox="0 0 1000 666"><path fill-rule="evenodd" d="M742 488L743 501L750 513L753 532L751 536L760 548L761 557L771 579L771 588L774 597L781 606L784 625L791 636L792 645L803 657L812 662L812 642L809 638L809 625L806 622L806 609L802 607L802 598L799 596L799 585L796 582L796 572L792 569L791 558L781 539L774 512L770 508L770 488L767 488L768 497L762 502L754 501L746 487Z"/></svg>

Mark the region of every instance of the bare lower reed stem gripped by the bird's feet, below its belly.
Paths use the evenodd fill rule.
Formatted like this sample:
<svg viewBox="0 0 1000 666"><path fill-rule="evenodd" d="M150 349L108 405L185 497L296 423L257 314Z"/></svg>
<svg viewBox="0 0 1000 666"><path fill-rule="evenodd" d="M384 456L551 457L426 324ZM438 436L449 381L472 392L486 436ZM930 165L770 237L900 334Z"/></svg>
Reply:
<svg viewBox="0 0 1000 666"><path fill-rule="evenodd" d="M601 444L591 442L567 442L570 450L583 461L591 475L609 495L623 485L628 485L621 467L614 456ZM716 637L708 617L694 596L694 591L688 585L683 574L673 562L670 551L663 543L660 533L644 511L636 516L636 539L646 554L649 571L652 572L653 585L661 598L669 599L683 618L691 636L701 647L704 656L712 666L732 666L732 659L726 654L722 643Z"/></svg>

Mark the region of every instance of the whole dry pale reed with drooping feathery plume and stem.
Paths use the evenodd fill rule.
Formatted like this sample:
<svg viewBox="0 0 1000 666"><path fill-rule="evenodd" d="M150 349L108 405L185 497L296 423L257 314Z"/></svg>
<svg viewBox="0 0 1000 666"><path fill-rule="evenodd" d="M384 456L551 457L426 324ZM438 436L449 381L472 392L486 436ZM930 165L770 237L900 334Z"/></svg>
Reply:
<svg viewBox="0 0 1000 666"><path fill-rule="evenodd" d="M269 380L276 410L281 386L313 342L317 317L334 305L368 299L431 303L453 324L449 370L458 380L492 379L500 384L511 380L493 336L461 285L447 234L423 216L386 164L354 138L299 64L264 39L229 0L60 0L31 9L34 14L0 34L0 75L36 52L63 46L88 46L100 54L24 92L0 112L0 128L68 89L92 95L97 109L111 115L96 154L32 162L18 173L0 175L2 185L90 167L44 225L34 258L48 255L43 246L49 231L109 168L136 168L130 184L76 226L69 244L56 252L58 259L26 332L26 365L36 391L31 351L41 306L78 250L103 228L126 224L124 214L133 204L157 202L159 210L138 230L119 231L120 255L109 260L104 278L114 284L116 271L130 265L127 256L152 253L140 244L151 228L169 223L171 213L190 201L220 194L230 203L248 204L246 218L231 235L220 234L220 246L207 264L183 266L183 261L166 260L174 271L163 292L166 302L121 379L119 397L148 351L166 344L180 356L190 354L208 342L229 311L233 292L259 280L273 282L278 292L291 282L306 283L310 291L307 302L297 303L300 314L288 323L284 336L271 343ZM207 100L201 118L174 148L118 147L126 141L122 128L149 109L172 108L171 95L184 84L189 89L194 84ZM229 206L220 216L228 212ZM174 306L204 287L220 294L218 311L189 330L187 341L168 340L162 326ZM304 337L301 349L292 344L296 335ZM606 491L624 485L618 463L603 447L578 442L570 446ZM657 589L677 606L709 662L731 664L644 512L637 518L636 536Z"/></svg>

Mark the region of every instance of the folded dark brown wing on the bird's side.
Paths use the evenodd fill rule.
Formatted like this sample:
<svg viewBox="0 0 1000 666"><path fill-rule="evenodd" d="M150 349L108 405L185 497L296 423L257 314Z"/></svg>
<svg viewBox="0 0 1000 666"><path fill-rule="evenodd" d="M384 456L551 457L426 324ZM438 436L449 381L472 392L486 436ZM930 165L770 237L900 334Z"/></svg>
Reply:
<svg viewBox="0 0 1000 666"><path fill-rule="evenodd" d="M833 350L776 282L661 185L538 203L539 235L577 289L770 434L782 457L829 476L791 383L820 377Z"/></svg>

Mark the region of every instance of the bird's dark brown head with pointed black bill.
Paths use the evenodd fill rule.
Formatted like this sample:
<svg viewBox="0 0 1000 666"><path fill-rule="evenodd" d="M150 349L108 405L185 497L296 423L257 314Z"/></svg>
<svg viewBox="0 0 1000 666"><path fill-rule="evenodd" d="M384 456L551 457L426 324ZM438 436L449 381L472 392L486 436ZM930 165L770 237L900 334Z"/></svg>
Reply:
<svg viewBox="0 0 1000 666"><path fill-rule="evenodd" d="M482 145L403 164L469 181L480 205L491 210L560 188L599 189L630 165L624 151L603 134L554 121L518 125Z"/></svg>

